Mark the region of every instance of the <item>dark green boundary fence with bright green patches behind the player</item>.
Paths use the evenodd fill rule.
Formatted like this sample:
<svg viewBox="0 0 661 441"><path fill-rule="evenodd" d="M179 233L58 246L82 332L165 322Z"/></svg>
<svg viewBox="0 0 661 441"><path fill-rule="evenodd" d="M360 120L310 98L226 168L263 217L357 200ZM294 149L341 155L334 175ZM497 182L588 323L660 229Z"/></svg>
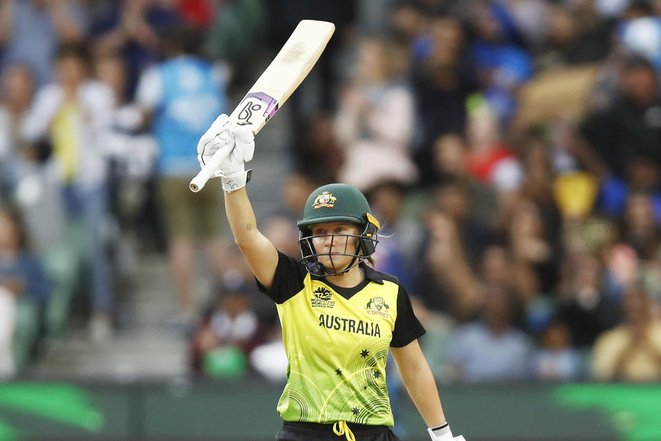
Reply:
<svg viewBox="0 0 661 441"><path fill-rule="evenodd" d="M0 441L273 440L282 384L262 380L0 384ZM439 387L469 441L661 440L659 384L465 384ZM410 401L395 431L428 440Z"/></svg>

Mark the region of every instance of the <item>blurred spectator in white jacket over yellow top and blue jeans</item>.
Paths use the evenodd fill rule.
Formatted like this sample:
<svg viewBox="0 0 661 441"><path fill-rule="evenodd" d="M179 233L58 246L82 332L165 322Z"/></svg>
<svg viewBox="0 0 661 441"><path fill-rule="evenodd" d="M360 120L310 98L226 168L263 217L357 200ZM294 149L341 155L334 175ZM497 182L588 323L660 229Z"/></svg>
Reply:
<svg viewBox="0 0 661 441"><path fill-rule="evenodd" d="M43 86L25 116L26 142L46 140L59 172L61 197L70 225L83 225L90 267L90 336L105 340L112 332L113 278L107 256L107 136L112 127L112 89L90 76L87 52L64 45L57 55L57 81Z"/></svg>

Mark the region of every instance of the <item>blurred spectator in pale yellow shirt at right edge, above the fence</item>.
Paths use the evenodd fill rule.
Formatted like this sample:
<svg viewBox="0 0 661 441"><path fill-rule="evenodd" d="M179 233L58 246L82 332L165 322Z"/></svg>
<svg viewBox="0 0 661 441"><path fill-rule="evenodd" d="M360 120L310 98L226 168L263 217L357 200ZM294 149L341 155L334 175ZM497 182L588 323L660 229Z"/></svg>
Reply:
<svg viewBox="0 0 661 441"><path fill-rule="evenodd" d="M642 287L627 286L625 322L600 334L594 345L595 378L647 382L661 379L661 323L651 315L650 306Z"/></svg>

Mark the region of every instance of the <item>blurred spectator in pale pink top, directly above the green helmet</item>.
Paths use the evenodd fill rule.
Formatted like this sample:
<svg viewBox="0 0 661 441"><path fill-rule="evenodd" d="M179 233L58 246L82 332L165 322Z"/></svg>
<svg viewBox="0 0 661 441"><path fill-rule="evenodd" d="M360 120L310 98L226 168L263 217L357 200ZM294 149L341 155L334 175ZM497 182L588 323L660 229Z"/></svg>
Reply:
<svg viewBox="0 0 661 441"><path fill-rule="evenodd" d="M410 158L415 109L403 78L404 57L385 40L364 38L357 45L353 78L344 85L335 121L346 158L339 181L359 189L384 178L415 182Z"/></svg>

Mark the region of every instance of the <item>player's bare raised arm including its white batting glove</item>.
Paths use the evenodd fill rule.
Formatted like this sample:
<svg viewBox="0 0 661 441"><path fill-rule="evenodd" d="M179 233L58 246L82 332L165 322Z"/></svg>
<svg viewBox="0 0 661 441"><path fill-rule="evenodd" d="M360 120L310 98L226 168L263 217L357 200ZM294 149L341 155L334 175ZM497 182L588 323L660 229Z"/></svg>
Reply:
<svg viewBox="0 0 661 441"><path fill-rule="evenodd" d="M246 258L255 277L271 287L277 266L277 251L271 241L257 229L255 212L246 193L251 170L245 163L251 161L255 151L255 136L249 127L232 127L226 114L202 135L198 143L198 160L204 167L218 150L224 156L213 176L220 177L225 196L225 211L234 235L234 241Z"/></svg>

